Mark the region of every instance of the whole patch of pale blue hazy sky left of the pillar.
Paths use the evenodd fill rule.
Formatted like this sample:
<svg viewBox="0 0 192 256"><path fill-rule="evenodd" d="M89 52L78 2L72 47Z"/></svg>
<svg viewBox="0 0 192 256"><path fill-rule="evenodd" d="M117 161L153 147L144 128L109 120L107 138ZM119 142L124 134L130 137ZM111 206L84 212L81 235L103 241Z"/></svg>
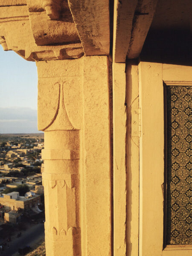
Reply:
<svg viewBox="0 0 192 256"><path fill-rule="evenodd" d="M36 133L37 67L0 46L0 133Z"/></svg>

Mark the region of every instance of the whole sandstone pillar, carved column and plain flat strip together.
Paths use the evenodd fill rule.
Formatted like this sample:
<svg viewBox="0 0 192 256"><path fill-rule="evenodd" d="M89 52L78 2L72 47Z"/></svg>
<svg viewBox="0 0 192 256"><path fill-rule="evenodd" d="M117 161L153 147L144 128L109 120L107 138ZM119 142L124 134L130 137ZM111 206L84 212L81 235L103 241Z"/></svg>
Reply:
<svg viewBox="0 0 192 256"><path fill-rule="evenodd" d="M46 255L111 255L108 57L37 66Z"/></svg>

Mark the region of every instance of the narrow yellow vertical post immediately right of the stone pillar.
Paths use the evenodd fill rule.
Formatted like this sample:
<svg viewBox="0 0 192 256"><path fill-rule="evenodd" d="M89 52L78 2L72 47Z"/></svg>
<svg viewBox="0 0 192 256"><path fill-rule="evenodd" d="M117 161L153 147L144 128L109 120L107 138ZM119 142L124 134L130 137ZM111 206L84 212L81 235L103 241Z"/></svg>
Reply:
<svg viewBox="0 0 192 256"><path fill-rule="evenodd" d="M113 63L113 255L126 255L125 64ZM121 134L121 136L119 136Z"/></svg>

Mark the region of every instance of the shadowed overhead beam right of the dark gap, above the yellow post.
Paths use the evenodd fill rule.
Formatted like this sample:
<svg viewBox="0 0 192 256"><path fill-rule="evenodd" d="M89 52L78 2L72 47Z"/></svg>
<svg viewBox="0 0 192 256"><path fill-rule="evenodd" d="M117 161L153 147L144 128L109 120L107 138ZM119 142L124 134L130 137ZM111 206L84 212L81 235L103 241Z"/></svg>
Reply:
<svg viewBox="0 0 192 256"><path fill-rule="evenodd" d="M151 26L157 0L115 0L113 60L138 58Z"/></svg>

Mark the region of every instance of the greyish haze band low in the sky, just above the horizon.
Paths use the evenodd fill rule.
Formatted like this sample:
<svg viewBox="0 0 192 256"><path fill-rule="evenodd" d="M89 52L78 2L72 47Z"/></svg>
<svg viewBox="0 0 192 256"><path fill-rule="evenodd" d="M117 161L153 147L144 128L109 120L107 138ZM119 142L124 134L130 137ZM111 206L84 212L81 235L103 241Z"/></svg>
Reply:
<svg viewBox="0 0 192 256"><path fill-rule="evenodd" d="M0 133L38 133L37 110L0 108Z"/></svg>

